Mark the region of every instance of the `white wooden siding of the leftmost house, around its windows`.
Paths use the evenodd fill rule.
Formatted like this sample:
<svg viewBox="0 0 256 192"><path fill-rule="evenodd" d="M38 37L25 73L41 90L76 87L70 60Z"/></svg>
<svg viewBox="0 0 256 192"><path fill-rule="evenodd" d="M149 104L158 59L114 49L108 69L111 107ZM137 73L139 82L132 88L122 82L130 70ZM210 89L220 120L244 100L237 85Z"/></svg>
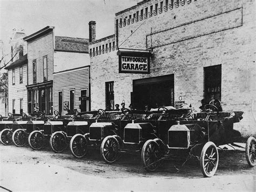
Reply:
<svg viewBox="0 0 256 192"><path fill-rule="evenodd" d="M23 83L19 83L19 66L15 67L15 85L12 85L12 68L8 70L9 112L12 113L12 100L15 99L15 113L19 113L19 100L23 99L23 112L28 113L27 65L23 65Z"/></svg>

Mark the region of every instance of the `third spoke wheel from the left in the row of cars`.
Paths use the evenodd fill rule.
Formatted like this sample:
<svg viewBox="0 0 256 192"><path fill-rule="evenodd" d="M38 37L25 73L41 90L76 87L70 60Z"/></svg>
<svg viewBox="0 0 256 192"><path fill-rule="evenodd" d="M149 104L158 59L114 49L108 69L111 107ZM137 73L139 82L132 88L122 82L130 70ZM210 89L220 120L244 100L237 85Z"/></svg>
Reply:
<svg viewBox="0 0 256 192"><path fill-rule="evenodd" d="M42 149L44 146L44 135L40 131L33 131L29 134L29 146L34 150Z"/></svg>

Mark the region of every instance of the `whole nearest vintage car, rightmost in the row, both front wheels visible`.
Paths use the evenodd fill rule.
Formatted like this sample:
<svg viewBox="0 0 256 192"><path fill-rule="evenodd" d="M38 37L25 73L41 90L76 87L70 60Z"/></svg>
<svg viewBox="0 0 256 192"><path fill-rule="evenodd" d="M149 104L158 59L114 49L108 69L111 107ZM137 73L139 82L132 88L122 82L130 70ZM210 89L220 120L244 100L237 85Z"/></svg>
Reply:
<svg viewBox="0 0 256 192"><path fill-rule="evenodd" d="M208 105L212 111L195 114L194 120L175 122L159 121L159 134L147 140L142 148L144 168L153 172L161 160L173 153L185 150L188 156L200 160L201 172L205 177L215 174L219 155L217 146L235 142L241 134L233 129L233 124L242 119L243 112L218 112L218 109ZM166 112L168 113L168 112ZM173 125L172 125L173 124ZM250 137L246 143L246 159L250 166L255 166L255 139Z"/></svg>

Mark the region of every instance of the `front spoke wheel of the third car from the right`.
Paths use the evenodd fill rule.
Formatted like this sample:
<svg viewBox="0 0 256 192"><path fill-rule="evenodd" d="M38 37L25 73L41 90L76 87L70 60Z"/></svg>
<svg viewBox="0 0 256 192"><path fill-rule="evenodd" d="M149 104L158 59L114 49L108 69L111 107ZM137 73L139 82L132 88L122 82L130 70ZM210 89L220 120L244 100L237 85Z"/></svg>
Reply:
<svg viewBox="0 0 256 192"><path fill-rule="evenodd" d="M76 134L70 141L70 150L74 157L81 158L87 153L87 139L82 134Z"/></svg>

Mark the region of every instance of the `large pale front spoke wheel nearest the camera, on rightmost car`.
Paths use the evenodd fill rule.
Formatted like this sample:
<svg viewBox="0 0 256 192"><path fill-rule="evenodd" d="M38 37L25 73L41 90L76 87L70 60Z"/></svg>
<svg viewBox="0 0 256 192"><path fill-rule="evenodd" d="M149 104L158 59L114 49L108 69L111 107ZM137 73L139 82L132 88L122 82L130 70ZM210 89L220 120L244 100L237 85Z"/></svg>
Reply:
<svg viewBox="0 0 256 192"><path fill-rule="evenodd" d="M212 177L219 163L219 153L215 144L211 141L207 142L200 156L200 168L205 177Z"/></svg>

